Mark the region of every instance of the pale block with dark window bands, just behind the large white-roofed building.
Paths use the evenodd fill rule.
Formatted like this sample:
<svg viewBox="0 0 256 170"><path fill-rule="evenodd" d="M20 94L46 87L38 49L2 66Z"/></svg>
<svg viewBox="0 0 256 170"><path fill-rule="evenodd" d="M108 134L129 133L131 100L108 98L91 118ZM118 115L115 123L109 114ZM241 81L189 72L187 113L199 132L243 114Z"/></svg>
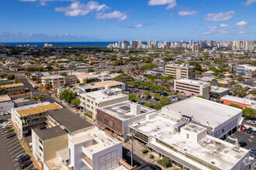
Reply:
<svg viewBox="0 0 256 170"><path fill-rule="evenodd" d="M203 96L209 99L210 83L199 80L175 80L175 91L185 93L187 96Z"/></svg>

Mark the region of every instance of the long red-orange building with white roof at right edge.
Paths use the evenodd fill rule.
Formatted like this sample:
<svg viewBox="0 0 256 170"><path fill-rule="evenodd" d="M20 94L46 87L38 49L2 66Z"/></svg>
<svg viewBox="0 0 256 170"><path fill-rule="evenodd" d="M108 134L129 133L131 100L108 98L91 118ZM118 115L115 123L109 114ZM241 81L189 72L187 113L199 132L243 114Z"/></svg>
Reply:
<svg viewBox="0 0 256 170"><path fill-rule="evenodd" d="M256 109L256 101L255 100L249 100L241 97L233 97L226 95L224 97L220 98L220 103L229 105L229 104L237 104L240 107L252 107L253 109Z"/></svg>

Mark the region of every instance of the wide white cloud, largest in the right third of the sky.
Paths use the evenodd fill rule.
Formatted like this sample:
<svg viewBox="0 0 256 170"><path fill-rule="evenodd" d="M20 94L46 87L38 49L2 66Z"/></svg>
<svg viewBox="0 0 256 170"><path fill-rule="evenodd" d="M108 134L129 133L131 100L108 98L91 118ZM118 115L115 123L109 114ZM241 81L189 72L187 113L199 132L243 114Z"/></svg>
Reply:
<svg viewBox="0 0 256 170"><path fill-rule="evenodd" d="M234 11L230 12L220 12L220 13L209 13L206 15L205 20L207 21L223 21L223 20L228 20L232 19L236 15Z"/></svg>

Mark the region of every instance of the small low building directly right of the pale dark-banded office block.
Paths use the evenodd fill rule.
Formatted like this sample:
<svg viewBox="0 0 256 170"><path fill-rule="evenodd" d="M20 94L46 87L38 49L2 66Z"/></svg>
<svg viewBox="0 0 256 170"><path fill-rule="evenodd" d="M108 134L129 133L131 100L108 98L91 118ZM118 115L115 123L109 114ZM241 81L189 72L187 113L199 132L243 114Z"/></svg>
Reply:
<svg viewBox="0 0 256 170"><path fill-rule="evenodd" d="M209 100L220 102L220 97L230 94L230 89L225 87L211 86L209 90Z"/></svg>

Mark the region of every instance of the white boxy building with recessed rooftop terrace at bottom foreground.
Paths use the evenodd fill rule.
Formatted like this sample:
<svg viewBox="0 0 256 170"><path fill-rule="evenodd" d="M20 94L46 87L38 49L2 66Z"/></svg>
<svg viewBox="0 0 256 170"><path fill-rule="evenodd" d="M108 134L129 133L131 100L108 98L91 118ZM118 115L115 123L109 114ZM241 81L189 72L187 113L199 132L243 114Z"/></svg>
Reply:
<svg viewBox="0 0 256 170"><path fill-rule="evenodd" d="M68 149L71 169L114 169L123 155L122 142L96 127L68 134Z"/></svg>

